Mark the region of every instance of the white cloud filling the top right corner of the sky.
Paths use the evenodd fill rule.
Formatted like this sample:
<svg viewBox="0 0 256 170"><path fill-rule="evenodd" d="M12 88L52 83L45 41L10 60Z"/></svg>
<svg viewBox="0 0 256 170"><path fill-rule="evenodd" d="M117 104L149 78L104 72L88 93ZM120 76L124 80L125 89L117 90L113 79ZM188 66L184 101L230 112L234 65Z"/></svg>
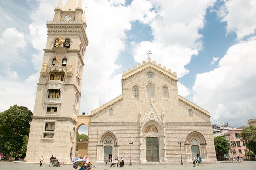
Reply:
<svg viewBox="0 0 256 170"><path fill-rule="evenodd" d="M227 22L227 33L235 32L237 38L255 33L256 29L256 1L230 0L225 1L220 12L222 21Z"/></svg>

